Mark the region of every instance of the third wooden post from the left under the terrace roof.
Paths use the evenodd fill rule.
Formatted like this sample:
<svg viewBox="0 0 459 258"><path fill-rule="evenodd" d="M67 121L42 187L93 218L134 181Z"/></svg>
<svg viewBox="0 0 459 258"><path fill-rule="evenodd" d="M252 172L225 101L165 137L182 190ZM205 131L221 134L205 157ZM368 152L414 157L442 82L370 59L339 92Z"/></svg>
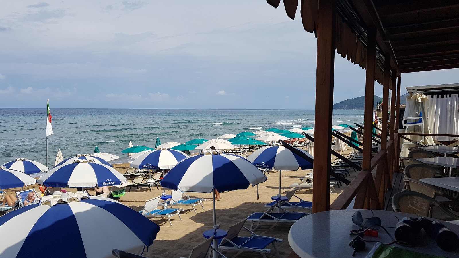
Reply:
<svg viewBox="0 0 459 258"><path fill-rule="evenodd" d="M381 150L387 149L387 110L389 107L389 88L391 84L391 56L384 56L384 81L382 92L382 115L381 115Z"/></svg>

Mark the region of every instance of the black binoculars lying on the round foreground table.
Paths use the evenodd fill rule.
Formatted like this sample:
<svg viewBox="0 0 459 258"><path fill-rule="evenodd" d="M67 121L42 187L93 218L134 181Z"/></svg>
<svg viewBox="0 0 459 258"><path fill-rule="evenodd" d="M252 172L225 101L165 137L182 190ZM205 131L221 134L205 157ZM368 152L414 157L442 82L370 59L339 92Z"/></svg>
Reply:
<svg viewBox="0 0 459 258"><path fill-rule="evenodd" d="M395 226L395 239L402 245L415 245L416 236L421 229L445 251L451 252L459 247L459 237L454 232L438 221L425 217L405 217L400 220Z"/></svg>

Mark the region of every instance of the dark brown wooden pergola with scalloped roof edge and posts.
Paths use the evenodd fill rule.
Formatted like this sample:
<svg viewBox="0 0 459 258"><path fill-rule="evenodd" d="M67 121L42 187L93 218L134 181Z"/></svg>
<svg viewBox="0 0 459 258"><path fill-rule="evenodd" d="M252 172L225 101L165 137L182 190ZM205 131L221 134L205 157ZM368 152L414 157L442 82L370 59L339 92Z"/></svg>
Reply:
<svg viewBox="0 0 459 258"><path fill-rule="evenodd" d="M280 0L267 0L277 8ZM459 67L458 0L284 0L303 28L317 37L313 213L347 208L382 209L398 172L401 74ZM381 151L371 154L364 134L362 170L330 207L330 146L335 50L366 69L365 115L373 120L375 80L383 84ZM388 103L389 90L392 103ZM396 97L395 97L396 96ZM396 102L397 101L397 102ZM387 111L391 108L388 129ZM372 123L364 131L371 132ZM371 172L376 168L375 178Z"/></svg>

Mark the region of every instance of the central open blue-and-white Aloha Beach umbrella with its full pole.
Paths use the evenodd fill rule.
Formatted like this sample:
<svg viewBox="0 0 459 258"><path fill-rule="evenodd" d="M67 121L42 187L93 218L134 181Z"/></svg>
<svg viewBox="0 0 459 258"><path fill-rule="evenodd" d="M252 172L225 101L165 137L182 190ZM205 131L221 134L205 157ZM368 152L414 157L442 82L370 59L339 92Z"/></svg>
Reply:
<svg viewBox="0 0 459 258"><path fill-rule="evenodd" d="M172 168L161 180L162 187L182 192L213 193L213 229L217 232L215 192L247 189L266 181L267 177L243 157L232 154L195 155ZM213 241L217 249L218 240ZM214 258L217 253L214 252Z"/></svg>

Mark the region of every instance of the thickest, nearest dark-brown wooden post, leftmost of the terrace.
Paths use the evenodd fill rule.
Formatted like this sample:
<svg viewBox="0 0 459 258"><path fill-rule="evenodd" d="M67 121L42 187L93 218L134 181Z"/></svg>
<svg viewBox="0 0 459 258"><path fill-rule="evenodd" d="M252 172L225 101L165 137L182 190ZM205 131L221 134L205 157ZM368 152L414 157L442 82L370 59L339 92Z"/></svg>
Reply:
<svg viewBox="0 0 459 258"><path fill-rule="evenodd" d="M317 23L313 213L330 210L331 118L335 73L336 0L321 0Z"/></svg>

